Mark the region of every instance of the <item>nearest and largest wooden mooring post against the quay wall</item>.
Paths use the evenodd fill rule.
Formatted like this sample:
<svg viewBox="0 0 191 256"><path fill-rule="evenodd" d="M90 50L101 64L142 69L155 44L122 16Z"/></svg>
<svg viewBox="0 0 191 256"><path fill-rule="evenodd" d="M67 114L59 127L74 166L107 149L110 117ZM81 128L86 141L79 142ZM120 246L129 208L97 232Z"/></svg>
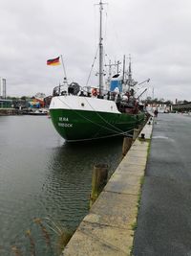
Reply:
<svg viewBox="0 0 191 256"><path fill-rule="evenodd" d="M94 166L93 169L93 176L92 176L92 192L91 192L91 199L90 199L90 207L96 201L99 194L107 184L108 178L108 165L107 164L97 164Z"/></svg>

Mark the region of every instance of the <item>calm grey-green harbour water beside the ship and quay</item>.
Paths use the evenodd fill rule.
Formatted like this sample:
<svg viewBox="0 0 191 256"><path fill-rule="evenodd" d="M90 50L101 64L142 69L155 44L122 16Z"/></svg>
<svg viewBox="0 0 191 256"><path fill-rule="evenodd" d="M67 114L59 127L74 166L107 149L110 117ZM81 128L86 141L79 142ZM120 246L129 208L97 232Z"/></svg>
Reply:
<svg viewBox="0 0 191 256"><path fill-rule="evenodd" d="M121 139L66 143L47 116L0 117L0 255L58 255L54 223L74 231L89 210L94 164L111 175L121 148Z"/></svg>

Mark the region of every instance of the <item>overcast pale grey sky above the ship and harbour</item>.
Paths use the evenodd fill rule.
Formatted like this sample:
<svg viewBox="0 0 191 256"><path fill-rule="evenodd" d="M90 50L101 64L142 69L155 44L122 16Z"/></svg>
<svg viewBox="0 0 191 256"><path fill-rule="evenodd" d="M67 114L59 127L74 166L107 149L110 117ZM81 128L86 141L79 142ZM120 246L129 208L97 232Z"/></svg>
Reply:
<svg viewBox="0 0 191 256"><path fill-rule="evenodd" d="M155 98L191 101L191 1L105 2L106 64L131 55L134 79L151 79L145 97L154 91ZM46 61L59 55L68 80L86 85L98 44L97 3L0 0L0 77L7 95L51 95L64 75L61 65ZM90 85L96 85L96 67Z"/></svg>

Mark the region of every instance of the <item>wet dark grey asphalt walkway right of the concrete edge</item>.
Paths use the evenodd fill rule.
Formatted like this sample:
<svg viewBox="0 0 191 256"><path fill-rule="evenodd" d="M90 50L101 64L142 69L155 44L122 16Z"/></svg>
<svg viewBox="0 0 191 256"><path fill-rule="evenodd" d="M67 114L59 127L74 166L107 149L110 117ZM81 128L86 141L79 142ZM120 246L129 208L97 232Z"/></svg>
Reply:
<svg viewBox="0 0 191 256"><path fill-rule="evenodd" d="M191 116L155 119L134 256L191 256Z"/></svg>

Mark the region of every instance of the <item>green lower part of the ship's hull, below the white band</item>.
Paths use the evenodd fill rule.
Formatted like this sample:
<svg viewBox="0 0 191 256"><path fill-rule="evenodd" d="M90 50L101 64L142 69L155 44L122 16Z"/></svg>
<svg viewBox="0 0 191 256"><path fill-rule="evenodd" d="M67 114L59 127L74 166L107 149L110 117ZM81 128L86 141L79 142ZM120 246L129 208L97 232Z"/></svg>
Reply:
<svg viewBox="0 0 191 256"><path fill-rule="evenodd" d="M132 134L145 120L144 113L136 115L72 109L50 109L53 126L68 141L93 140Z"/></svg>

